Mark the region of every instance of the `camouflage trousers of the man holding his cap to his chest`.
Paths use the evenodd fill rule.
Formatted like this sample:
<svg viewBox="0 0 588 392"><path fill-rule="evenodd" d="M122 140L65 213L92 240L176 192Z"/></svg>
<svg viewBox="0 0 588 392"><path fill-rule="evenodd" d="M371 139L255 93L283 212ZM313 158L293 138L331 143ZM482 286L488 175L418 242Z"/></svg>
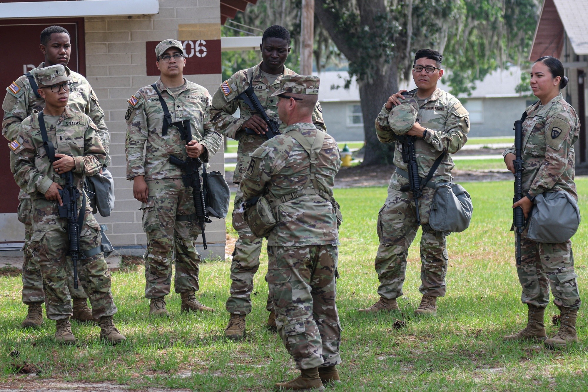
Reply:
<svg viewBox="0 0 588 392"><path fill-rule="evenodd" d="M445 295L445 274L447 273L447 249L444 235L430 229L431 212L435 190L423 188L419 198L420 224L423 228L420 240L420 281L419 291L430 297ZM377 217L377 248L375 268L380 286L377 293L389 300L400 297L406 276L408 248L418 230L415 217L415 202L412 192L403 192L388 187L388 197Z"/></svg>

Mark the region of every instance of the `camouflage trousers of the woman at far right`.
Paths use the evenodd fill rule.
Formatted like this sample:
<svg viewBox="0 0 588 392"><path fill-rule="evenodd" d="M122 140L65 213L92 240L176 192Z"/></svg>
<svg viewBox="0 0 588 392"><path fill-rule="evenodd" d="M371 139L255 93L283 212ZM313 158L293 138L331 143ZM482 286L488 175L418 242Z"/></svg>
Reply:
<svg viewBox="0 0 588 392"><path fill-rule="evenodd" d="M566 308L580 307L580 293L574 273L572 241L560 244L543 244L521 235L521 263L516 266L523 288L521 301L537 307L549 304L549 288L553 303ZM515 237L516 249L516 237Z"/></svg>

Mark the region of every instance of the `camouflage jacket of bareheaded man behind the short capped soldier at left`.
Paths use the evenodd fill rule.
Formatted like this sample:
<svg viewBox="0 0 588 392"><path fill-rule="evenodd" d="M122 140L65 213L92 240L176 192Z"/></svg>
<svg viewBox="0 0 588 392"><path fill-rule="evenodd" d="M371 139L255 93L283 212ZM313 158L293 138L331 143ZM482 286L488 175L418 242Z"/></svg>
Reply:
<svg viewBox="0 0 588 392"><path fill-rule="evenodd" d="M35 69L44 67L45 62L42 62ZM87 114L98 127L98 135L102 139L102 145L106 150L104 164L108 166L111 163L111 158L108 155L110 134L104 123L104 112L98 104L98 98L86 78L68 67L65 67L65 71L76 83L69 91L68 106L75 111ZM25 75L16 79L14 85L18 87L18 91L14 92L10 87L6 88L6 97L2 104L2 109L4 109L2 135L9 141L16 138L19 125L26 117L31 115L33 110L41 111L45 107L44 99L36 97L31 88L31 83ZM14 86L11 85L11 87Z"/></svg>

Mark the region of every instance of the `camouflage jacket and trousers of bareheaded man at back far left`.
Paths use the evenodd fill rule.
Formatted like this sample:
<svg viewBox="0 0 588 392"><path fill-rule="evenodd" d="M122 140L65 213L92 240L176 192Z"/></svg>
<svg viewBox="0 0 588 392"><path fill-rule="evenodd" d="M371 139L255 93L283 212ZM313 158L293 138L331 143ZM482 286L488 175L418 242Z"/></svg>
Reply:
<svg viewBox="0 0 588 392"><path fill-rule="evenodd" d="M39 64L39 67L32 69L31 73L37 69L45 68L45 62ZM98 104L98 98L92 87L81 74L71 71L65 67L68 76L76 83L69 91L68 107L83 112L92 118L92 121L98 127L98 135L102 140L102 145L106 150L105 165L110 164L108 148L110 144L110 134L104 123L104 112ZM14 92L14 90L17 90ZM29 79L22 75L14 83L6 88L6 97L2 104L4 109L4 119L2 121L2 135L9 141L14 140L18 135L21 122L36 111L41 111L45 106L43 98L37 98L31 87ZM32 236L32 221L29 213L32 210L31 200L26 192L22 191L18 195L18 220L25 225L25 244L24 244L24 263L22 264L22 302L24 304L42 303L45 301L43 291L43 281L41 270L33 260L31 260L31 251L28 249L28 243ZM72 298L88 298L83 292L81 286L74 288L71 271L68 270L69 290Z"/></svg>

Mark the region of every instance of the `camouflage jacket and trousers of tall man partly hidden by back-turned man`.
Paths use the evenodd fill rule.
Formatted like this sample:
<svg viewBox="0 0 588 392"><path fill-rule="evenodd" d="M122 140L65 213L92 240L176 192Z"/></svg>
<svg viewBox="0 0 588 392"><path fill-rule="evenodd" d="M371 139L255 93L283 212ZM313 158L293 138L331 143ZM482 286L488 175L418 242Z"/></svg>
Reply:
<svg viewBox="0 0 588 392"><path fill-rule="evenodd" d="M252 85L255 89L259 102L263 105L269 118L278 119L278 98L272 97L279 87L283 75L296 75L296 72L284 67L282 76L273 83L269 83L260 69L261 63L253 67ZM235 99L237 95L249 87L247 70L242 69L236 72L227 81L220 85L212 98L211 118L215 129L226 137L239 141L237 150L237 165L233 182L239 184L243 173L249 163L249 157L266 140L261 135L247 135L241 130L243 122L249 119L251 110L243 101ZM239 109L239 118L232 116ZM322 109L317 102L312 121L316 127L326 132L323 122ZM283 131L285 124L280 124L280 131ZM232 314L249 314L251 311L251 292L253 291L253 276L259 268L259 254L262 248L262 238L256 237L243 219L239 205L243 202L243 192L240 188L235 195L235 207L233 209L233 228L238 232L239 238L235 242L235 251L230 267L230 297L226 301L226 310ZM266 304L268 311L272 310L271 293Z"/></svg>

